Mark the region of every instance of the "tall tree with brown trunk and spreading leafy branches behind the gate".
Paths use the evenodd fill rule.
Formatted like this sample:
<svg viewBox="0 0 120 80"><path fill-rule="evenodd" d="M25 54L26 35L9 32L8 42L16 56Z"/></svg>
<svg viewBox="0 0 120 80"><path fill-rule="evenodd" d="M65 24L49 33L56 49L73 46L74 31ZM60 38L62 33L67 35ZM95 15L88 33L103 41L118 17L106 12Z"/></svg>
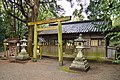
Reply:
<svg viewBox="0 0 120 80"><path fill-rule="evenodd" d="M55 0L2 0L5 11L13 18L13 27L16 33L17 21L27 26L28 22L44 20L47 15L57 17L56 13L60 11L59 5ZM38 16L38 14L40 14ZM33 27L28 27L28 53L32 55Z"/></svg>

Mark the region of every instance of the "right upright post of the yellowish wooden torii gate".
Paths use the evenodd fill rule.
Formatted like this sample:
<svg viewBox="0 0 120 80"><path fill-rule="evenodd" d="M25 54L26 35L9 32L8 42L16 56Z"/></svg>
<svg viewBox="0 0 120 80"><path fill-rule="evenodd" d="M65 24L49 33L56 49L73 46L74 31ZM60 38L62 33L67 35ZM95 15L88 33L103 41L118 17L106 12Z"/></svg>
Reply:
<svg viewBox="0 0 120 80"><path fill-rule="evenodd" d="M62 47L62 25L58 21L58 55L59 55L59 65L63 65L63 47Z"/></svg>

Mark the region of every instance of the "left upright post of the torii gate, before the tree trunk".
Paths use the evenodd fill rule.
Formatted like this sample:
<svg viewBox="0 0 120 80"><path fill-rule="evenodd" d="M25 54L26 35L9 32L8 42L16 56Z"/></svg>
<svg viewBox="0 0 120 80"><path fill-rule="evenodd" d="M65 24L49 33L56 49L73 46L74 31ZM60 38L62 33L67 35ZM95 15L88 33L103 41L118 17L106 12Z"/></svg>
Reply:
<svg viewBox="0 0 120 80"><path fill-rule="evenodd" d="M33 48L33 62L37 61L37 25L34 25L34 48Z"/></svg>

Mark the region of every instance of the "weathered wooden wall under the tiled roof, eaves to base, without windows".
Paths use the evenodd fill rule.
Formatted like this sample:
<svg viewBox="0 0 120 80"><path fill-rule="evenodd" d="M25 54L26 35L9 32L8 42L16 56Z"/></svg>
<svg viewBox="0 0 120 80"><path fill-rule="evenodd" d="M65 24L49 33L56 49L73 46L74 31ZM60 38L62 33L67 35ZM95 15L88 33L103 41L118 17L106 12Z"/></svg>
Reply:
<svg viewBox="0 0 120 80"><path fill-rule="evenodd" d="M78 37L79 34L63 34L63 40L74 40ZM49 39L49 43L51 40L57 40L57 35L45 35L42 36L45 39ZM83 38L88 40L89 42L85 45L86 49L83 50L85 57L90 58L105 58L106 57L106 47L104 46L91 46L91 39L103 39L104 35L100 33L84 33ZM66 46L63 45L64 54L73 55L76 52L75 46ZM58 55L58 46L49 44L43 46L43 54L46 55Z"/></svg>

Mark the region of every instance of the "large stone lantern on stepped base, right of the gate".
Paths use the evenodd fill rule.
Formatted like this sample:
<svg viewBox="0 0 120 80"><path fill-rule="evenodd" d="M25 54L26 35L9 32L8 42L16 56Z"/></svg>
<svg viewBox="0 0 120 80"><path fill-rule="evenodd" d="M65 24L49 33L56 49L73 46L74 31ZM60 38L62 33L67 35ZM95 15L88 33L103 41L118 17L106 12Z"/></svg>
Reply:
<svg viewBox="0 0 120 80"><path fill-rule="evenodd" d="M87 71L90 68L90 66L87 63L87 60L83 57L82 53L82 50L84 49L83 44L86 41L82 38L82 34L80 34L79 37L74 40L74 42L78 43L78 45L76 46L78 54L69 68L71 70Z"/></svg>

